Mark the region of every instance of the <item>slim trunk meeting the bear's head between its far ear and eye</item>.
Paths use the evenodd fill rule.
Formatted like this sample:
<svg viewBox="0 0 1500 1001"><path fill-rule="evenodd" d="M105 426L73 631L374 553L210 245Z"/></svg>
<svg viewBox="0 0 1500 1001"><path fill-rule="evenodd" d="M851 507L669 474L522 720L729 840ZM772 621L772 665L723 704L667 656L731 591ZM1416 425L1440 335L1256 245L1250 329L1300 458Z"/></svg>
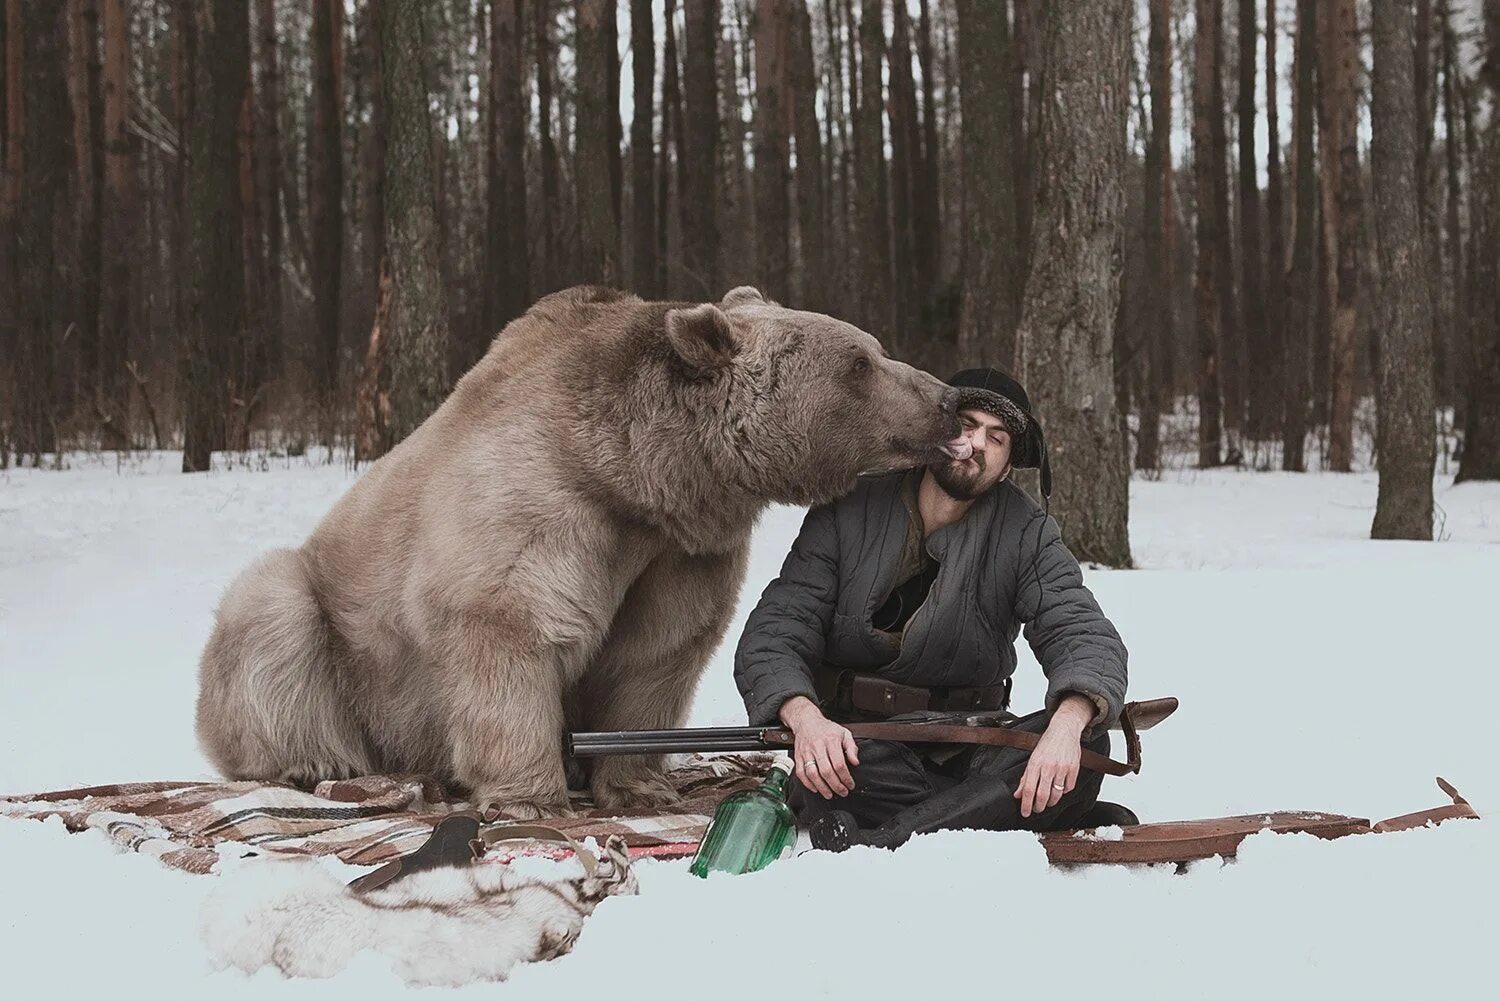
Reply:
<svg viewBox="0 0 1500 1001"><path fill-rule="evenodd" d="M824 140L818 131L818 77L813 63L813 23L807 0L792 2L792 101L796 123L796 237L801 245L798 305L830 308L832 269L828 266Z"/></svg>

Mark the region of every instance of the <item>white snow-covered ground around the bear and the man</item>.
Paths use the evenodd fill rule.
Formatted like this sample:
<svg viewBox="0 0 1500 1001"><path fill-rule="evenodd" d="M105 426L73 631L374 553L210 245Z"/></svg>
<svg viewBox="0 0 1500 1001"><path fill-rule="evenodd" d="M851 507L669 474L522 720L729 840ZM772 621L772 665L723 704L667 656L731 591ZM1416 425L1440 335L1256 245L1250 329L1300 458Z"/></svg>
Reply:
<svg viewBox="0 0 1500 1001"><path fill-rule="evenodd" d="M76 456L0 474L0 792L212 771L195 665L219 591L300 542L344 465L176 473L176 455ZM1131 651L1131 698L1176 695L1146 767L1106 798L1144 819L1437 806L1432 777L1500 803L1500 485L1437 480L1440 542L1370 542L1376 477L1173 471L1131 486L1131 572L1089 585ZM770 512L740 621L801 513ZM742 722L730 629L693 722ZM1024 647L1024 644L1023 644ZM1023 650L1017 705L1042 684ZM570 956L506 996L1500 996L1494 821L1320 842L1258 834L1233 864L1050 869L1024 833L898 852L810 852L742 878L639 863ZM0 984L159 996L404 990L364 956L326 981L214 972L198 927L216 879L100 834L0 819Z"/></svg>

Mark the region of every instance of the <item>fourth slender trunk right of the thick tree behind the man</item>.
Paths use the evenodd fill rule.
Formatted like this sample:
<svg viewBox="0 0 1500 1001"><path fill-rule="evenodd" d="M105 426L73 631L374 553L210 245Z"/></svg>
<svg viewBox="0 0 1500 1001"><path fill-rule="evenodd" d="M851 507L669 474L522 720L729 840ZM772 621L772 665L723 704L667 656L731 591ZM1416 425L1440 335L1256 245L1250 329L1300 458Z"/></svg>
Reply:
<svg viewBox="0 0 1500 1001"><path fill-rule="evenodd" d="M1262 365L1260 434L1275 437L1282 426L1286 357L1286 204L1281 179L1281 84L1276 77L1276 0L1266 0L1266 323Z"/></svg>

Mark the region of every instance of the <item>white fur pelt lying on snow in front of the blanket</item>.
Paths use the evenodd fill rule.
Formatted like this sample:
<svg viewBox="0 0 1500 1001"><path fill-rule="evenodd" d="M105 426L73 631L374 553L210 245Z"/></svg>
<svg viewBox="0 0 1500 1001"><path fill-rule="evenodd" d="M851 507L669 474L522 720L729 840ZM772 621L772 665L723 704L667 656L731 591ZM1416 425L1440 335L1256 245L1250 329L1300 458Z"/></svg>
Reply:
<svg viewBox="0 0 1500 1001"><path fill-rule="evenodd" d="M518 962L561 956L600 900L638 891L618 837L596 875L561 881L476 864L357 894L314 860L244 863L222 879L202 926L220 966L332 977L372 948L406 983L435 986L504 980Z"/></svg>

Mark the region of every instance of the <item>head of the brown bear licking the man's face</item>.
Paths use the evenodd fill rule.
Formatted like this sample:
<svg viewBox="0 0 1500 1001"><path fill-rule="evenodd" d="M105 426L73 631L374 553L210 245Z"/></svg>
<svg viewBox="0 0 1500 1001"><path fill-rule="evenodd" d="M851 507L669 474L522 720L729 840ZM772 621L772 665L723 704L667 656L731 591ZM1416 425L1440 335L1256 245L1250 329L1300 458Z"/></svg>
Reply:
<svg viewBox="0 0 1500 1001"><path fill-rule="evenodd" d="M768 501L830 501L862 473L942 458L958 435L956 390L854 324L750 287L670 309L666 339L720 416L732 479Z"/></svg>

